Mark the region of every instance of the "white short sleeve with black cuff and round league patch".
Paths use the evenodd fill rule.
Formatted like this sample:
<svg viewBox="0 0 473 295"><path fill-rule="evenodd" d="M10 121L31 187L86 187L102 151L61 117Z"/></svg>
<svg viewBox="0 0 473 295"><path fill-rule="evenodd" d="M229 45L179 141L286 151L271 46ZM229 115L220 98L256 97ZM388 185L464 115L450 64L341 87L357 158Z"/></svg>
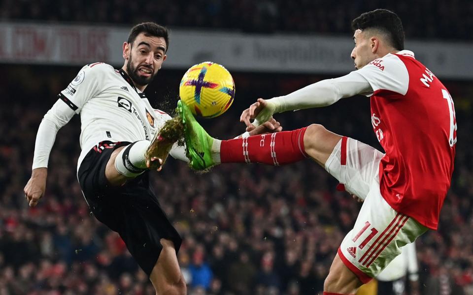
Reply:
<svg viewBox="0 0 473 295"><path fill-rule="evenodd" d="M79 114L84 104L99 91L105 75L103 70L110 65L93 63L84 66L68 87L59 93L62 100L75 114Z"/></svg>

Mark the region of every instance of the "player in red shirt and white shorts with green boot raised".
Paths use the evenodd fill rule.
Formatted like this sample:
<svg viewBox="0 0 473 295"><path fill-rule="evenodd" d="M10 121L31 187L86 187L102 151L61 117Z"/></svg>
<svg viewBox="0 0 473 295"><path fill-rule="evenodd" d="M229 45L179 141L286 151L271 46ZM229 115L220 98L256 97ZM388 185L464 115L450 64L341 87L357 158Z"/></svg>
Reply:
<svg viewBox="0 0 473 295"><path fill-rule="evenodd" d="M321 125L220 141L210 137L179 103L191 166L220 163L283 165L310 157L364 200L324 284L324 295L351 295L378 275L401 248L436 230L450 187L456 143L453 101L439 79L404 49L399 17L385 9L352 22L357 70L285 96L258 99L241 115L252 130L273 114L331 105L364 94L385 153ZM250 119L255 119L253 124Z"/></svg>

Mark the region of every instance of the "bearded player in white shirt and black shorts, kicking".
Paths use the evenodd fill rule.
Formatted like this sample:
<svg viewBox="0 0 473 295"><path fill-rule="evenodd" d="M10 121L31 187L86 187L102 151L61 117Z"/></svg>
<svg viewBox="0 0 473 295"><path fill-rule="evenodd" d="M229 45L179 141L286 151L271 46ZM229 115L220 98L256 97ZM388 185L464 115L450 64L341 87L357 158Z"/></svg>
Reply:
<svg viewBox="0 0 473 295"><path fill-rule="evenodd" d="M167 153L187 161L183 147L160 136L169 115L151 107L143 90L166 60L168 30L155 23L132 28L123 44L124 65L84 66L59 94L39 125L32 177L24 192L36 206L46 187L47 164L58 130L80 114L77 177L95 217L119 233L156 294L186 294L176 253L181 237L149 184ZM272 120L258 132L279 131ZM170 149L170 150L169 150Z"/></svg>

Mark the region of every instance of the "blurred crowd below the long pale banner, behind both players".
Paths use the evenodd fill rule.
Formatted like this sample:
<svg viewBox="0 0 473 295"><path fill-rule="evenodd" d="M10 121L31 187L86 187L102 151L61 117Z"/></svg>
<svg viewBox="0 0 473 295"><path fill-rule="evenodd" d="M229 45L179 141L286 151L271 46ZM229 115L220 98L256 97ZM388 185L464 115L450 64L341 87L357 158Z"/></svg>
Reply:
<svg viewBox="0 0 473 295"><path fill-rule="evenodd" d="M77 68L2 65L0 70L9 73L0 81L0 295L154 294L121 238L90 214L82 197L75 174L78 116L58 133L45 196L38 207L27 206L23 187L31 175L37 127ZM175 91L169 89L177 87L181 75L160 74L147 90L151 102L165 102L160 107L169 110L175 104ZM238 115L256 97L287 93L320 79L238 73L234 78L231 110L203 122L220 138L243 132ZM172 83L175 87L164 87ZM473 87L446 86L456 103L456 166L439 231L417 240L423 295L473 294ZM367 98L277 118L286 130L317 122L379 147ZM222 165L203 175L168 160L151 178L184 238L178 259L191 295L321 294L338 245L360 207L309 160L284 167Z"/></svg>

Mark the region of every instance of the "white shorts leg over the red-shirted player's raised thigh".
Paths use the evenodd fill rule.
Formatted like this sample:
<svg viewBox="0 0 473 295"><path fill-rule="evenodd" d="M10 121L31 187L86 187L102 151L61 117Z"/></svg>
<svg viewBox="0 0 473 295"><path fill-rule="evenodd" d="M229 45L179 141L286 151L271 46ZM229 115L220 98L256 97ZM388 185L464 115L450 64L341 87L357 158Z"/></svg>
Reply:
<svg viewBox="0 0 473 295"><path fill-rule="evenodd" d="M325 170L344 185L345 190L365 200L373 178L379 174L383 153L362 142L343 137L325 163Z"/></svg>

